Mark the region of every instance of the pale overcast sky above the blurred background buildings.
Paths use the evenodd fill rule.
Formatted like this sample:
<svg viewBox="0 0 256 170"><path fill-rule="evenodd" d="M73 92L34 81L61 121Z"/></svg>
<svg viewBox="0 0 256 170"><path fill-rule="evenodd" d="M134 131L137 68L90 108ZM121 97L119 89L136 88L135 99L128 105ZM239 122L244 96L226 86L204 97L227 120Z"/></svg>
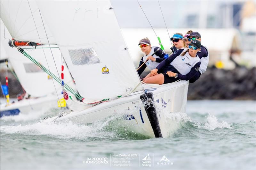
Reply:
<svg viewBox="0 0 256 170"><path fill-rule="evenodd" d="M242 3L241 0L199 1L199 0L159 0L167 27L183 27L186 16L193 13L218 15L221 4ZM165 27L157 0L139 0L153 27ZM111 0L118 23L121 27L149 27L136 0Z"/></svg>

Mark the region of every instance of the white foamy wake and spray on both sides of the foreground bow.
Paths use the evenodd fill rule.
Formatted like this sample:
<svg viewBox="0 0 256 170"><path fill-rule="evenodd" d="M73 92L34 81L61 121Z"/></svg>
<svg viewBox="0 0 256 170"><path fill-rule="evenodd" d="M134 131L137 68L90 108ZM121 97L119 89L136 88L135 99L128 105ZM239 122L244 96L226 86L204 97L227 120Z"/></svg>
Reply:
<svg viewBox="0 0 256 170"><path fill-rule="evenodd" d="M61 123L46 123L42 120L31 121L42 117L42 113L9 116L1 119L1 134L43 135L50 138L82 141L150 138L128 131L125 128L120 128L118 122L124 120L123 115L123 113L115 114L105 120L91 124L75 124L71 121ZM171 138L180 135L192 135L195 131L198 133L203 131L204 133L204 131L214 131L216 129L232 129L232 124L218 122L217 118L211 114L205 116L206 122L193 121L186 113L162 113L161 116L172 119L172 124L169 126Z"/></svg>

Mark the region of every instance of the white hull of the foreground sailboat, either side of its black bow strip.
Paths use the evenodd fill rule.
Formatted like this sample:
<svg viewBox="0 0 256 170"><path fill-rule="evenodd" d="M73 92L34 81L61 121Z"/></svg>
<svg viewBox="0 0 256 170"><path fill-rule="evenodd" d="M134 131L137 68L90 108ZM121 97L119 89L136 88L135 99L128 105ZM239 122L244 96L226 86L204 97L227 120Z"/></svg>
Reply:
<svg viewBox="0 0 256 170"><path fill-rule="evenodd" d="M162 137L168 137L172 133L173 120L161 113L186 112L188 82L178 81L160 86L143 85L147 93L153 94L154 104L156 106L156 115L161 129ZM104 120L109 116L123 114L124 117L116 122L118 128L124 128L138 134L149 137L155 137L148 115L143 107L140 96L143 92L134 92L129 96L104 102L82 111L73 111L63 114L61 117L47 118L47 122L71 121L73 123L94 123ZM163 100L163 102L162 102ZM147 104L146 104L147 105ZM145 105L144 105L145 106ZM121 111L121 113L120 113ZM120 116L119 116L120 117ZM130 118L130 119L129 119Z"/></svg>

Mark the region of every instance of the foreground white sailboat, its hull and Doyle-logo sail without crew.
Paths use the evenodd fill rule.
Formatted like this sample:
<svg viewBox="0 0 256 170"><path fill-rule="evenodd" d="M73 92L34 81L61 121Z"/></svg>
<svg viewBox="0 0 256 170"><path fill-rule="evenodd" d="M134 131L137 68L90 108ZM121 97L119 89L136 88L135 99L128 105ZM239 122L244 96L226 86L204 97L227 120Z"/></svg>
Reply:
<svg viewBox="0 0 256 170"><path fill-rule="evenodd" d="M93 123L127 110L118 119L119 128L149 137L170 135L173 120L162 112L186 111L188 81L142 84L110 1L36 4L56 41L49 44L60 48L83 97L76 102L83 107L45 118L45 122Z"/></svg>

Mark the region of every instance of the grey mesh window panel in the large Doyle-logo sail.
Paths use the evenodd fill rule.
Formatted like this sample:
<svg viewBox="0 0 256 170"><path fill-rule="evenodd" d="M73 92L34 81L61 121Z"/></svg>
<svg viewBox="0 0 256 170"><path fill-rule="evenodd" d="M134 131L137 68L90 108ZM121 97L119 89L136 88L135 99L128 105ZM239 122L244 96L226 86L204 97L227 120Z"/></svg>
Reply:
<svg viewBox="0 0 256 170"><path fill-rule="evenodd" d="M93 48L70 49L68 52L74 65L100 63L100 59Z"/></svg>

